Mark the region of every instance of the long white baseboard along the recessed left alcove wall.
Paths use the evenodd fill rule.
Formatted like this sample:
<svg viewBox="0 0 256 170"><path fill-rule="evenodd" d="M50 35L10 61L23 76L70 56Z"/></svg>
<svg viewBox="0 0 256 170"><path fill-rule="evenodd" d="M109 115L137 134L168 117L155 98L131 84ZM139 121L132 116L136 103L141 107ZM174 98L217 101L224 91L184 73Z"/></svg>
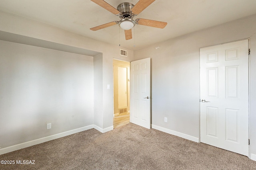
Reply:
<svg viewBox="0 0 256 170"><path fill-rule="evenodd" d="M56 134L56 135L51 135L51 136L43 137L43 138L36 139L36 140L33 140L33 141L28 141L28 142L25 142L25 143L20 143L20 144L18 144L18 145L13 145L13 146L10 146L10 147L2 148L2 149L0 149L0 155L1 155L1 154L8 153L8 152L12 152L12 151L14 151L14 150L19 150L19 149L22 149L22 148L31 147L31 146L33 146L33 145L37 145L37 144L40 144L40 143L44 143L44 142L47 142L47 141L51 141L51 140L53 140L53 139L58 139L58 138L60 138L60 137L72 135L72 134L74 134L74 133L86 131L86 130L92 129L92 128L94 128L94 125L89 125L89 126L85 126L85 127L80 127L80 128L78 128L78 129L73 129L73 130L70 130L70 131L58 133L58 134Z"/></svg>

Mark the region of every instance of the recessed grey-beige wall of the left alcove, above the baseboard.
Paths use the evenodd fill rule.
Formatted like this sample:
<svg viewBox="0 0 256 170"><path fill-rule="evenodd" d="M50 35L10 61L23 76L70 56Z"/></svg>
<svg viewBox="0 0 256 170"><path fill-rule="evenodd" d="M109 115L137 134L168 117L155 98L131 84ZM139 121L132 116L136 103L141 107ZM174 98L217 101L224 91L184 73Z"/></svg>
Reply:
<svg viewBox="0 0 256 170"><path fill-rule="evenodd" d="M0 149L94 124L93 57L0 41L0 61Z"/></svg>

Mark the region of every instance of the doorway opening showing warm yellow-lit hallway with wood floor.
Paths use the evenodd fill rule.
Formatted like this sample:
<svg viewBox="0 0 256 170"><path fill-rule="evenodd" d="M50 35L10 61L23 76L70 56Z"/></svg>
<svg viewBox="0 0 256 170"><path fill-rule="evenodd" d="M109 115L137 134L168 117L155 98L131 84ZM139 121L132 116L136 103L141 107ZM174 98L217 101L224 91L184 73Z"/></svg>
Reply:
<svg viewBox="0 0 256 170"><path fill-rule="evenodd" d="M130 63L113 59L113 126L130 123Z"/></svg>

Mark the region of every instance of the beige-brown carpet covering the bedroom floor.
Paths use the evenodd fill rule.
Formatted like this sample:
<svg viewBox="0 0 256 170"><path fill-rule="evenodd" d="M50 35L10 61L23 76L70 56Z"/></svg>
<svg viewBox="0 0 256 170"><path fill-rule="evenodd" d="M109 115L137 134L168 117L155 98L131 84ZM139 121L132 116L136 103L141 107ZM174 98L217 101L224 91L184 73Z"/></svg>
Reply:
<svg viewBox="0 0 256 170"><path fill-rule="evenodd" d="M0 169L256 170L246 156L129 123L107 133L95 129L0 155Z"/></svg>

